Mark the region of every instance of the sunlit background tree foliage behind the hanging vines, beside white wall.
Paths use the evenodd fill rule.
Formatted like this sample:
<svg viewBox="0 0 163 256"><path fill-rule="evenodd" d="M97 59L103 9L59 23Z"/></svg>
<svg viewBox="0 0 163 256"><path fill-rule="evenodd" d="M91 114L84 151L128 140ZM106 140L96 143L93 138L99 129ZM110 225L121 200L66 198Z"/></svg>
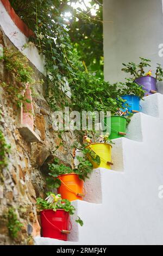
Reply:
<svg viewBox="0 0 163 256"><path fill-rule="evenodd" d="M27 26L35 30L36 13L33 8L37 5L37 17L40 25L40 31L45 25L47 17L40 19L40 4L42 10L48 10L53 15L53 22L49 19L50 26L66 26L66 31L70 35L73 48L76 48L80 60L84 61L89 70L103 71L103 5L102 0L90 0L89 4L81 0L53 0L53 1L30 1L24 3L22 0L10 0L16 13L26 22ZM74 8L76 6L76 8ZM51 9L51 7L53 7ZM53 13L52 13L53 11ZM93 15L92 15L93 11ZM43 13L45 13L43 11ZM42 18L42 17L41 17ZM62 18L62 19L60 19ZM60 23L54 24L59 19ZM41 27L42 25L42 27ZM56 31L60 37L60 30ZM43 32L44 33L44 32ZM43 35L42 33L42 35ZM54 31L55 35L55 31ZM61 31L61 35L62 31ZM64 36L63 36L64 39ZM63 40L64 41L64 40Z"/></svg>

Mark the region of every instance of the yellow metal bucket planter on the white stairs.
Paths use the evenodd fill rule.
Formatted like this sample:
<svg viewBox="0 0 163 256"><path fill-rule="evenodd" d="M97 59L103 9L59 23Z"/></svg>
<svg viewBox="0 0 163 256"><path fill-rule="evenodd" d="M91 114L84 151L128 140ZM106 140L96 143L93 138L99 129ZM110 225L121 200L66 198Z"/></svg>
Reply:
<svg viewBox="0 0 163 256"><path fill-rule="evenodd" d="M93 164L93 168L105 168L105 169L111 169L111 165L113 165L111 161L111 148L112 146L110 144L106 143L93 143L89 144L85 147L86 149L90 149L93 151L93 153L96 153L101 159L101 163L98 165L98 163L94 162L91 156L88 156L90 162Z"/></svg>

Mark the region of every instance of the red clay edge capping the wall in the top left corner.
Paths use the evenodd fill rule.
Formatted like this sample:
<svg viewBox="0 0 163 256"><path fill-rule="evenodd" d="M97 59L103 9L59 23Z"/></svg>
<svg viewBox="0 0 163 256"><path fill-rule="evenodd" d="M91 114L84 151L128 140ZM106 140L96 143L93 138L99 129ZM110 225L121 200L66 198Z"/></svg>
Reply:
<svg viewBox="0 0 163 256"><path fill-rule="evenodd" d="M34 36L33 31L31 31L27 25L20 19L20 17L17 16L14 9L11 7L11 4L9 0L1 0L2 4L4 5L4 8L8 11L8 14L10 15L12 21L15 23L15 25L20 29L20 31L29 38L30 36Z"/></svg>

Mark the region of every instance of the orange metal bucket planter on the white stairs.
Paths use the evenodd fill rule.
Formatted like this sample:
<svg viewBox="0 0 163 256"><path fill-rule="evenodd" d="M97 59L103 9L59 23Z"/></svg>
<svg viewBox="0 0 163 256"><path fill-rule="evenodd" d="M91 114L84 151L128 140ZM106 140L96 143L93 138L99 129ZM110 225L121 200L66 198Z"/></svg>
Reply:
<svg viewBox="0 0 163 256"><path fill-rule="evenodd" d="M64 174L58 178L61 181L58 193L61 194L62 199L69 201L83 200L84 181L80 180L77 174Z"/></svg>

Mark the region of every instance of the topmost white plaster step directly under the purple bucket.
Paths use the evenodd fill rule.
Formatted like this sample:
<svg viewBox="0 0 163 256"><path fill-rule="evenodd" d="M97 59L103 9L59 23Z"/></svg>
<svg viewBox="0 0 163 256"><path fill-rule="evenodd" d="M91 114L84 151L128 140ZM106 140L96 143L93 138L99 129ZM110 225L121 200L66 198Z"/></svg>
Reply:
<svg viewBox="0 0 163 256"><path fill-rule="evenodd" d="M141 100L142 113L163 119L163 95L156 93Z"/></svg>

